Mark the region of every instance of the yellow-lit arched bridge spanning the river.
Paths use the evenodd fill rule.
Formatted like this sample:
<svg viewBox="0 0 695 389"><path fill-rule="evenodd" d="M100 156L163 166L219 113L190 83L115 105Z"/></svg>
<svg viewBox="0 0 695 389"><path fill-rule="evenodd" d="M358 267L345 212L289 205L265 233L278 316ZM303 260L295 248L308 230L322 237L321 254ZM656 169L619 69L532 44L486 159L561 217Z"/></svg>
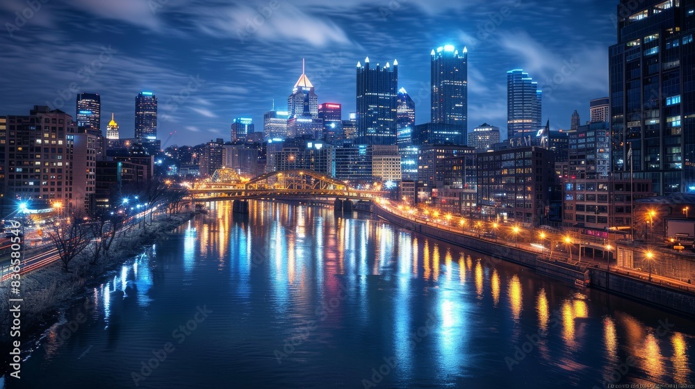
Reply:
<svg viewBox="0 0 695 389"><path fill-rule="evenodd" d="M190 201L246 199L346 199L372 201L385 197L381 190L357 190L347 183L311 170L287 170L243 179L232 169L218 169L211 179L188 190Z"/></svg>

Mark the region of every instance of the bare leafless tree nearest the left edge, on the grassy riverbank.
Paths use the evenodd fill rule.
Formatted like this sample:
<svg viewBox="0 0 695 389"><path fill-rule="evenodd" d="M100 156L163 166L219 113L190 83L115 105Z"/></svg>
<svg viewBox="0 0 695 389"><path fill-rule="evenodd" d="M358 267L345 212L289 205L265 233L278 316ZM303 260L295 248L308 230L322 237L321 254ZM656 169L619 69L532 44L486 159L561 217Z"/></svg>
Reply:
<svg viewBox="0 0 695 389"><path fill-rule="evenodd" d="M68 271L70 261L88 247L92 241L92 231L86 222L83 209L72 210L65 220L51 226L48 235L58 249L63 269Z"/></svg>

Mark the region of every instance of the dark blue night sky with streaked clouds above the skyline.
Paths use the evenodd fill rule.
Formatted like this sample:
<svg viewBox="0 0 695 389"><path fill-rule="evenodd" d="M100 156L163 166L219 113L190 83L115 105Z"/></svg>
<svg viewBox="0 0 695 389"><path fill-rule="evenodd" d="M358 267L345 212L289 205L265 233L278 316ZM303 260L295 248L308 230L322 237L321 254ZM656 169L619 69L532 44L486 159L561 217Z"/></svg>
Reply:
<svg viewBox="0 0 695 389"><path fill-rule="evenodd" d="M28 115L34 105L75 115L72 86L101 94L101 129L114 112L129 138L135 97L150 90L159 102L159 138L178 131L167 146L229 140L234 117L250 116L262 131L272 99L286 108L302 58L319 103L342 103L344 119L355 107L357 61L398 59L399 87L417 103L416 122L428 122L430 51L443 44L468 47L468 131L487 122L506 134L507 70L518 68L541 85L543 123L550 118L551 129L567 129L574 110L584 122L589 100L608 94L618 3L35 2L36 12L24 0L0 2L0 115ZM33 15L22 24L17 11Z"/></svg>

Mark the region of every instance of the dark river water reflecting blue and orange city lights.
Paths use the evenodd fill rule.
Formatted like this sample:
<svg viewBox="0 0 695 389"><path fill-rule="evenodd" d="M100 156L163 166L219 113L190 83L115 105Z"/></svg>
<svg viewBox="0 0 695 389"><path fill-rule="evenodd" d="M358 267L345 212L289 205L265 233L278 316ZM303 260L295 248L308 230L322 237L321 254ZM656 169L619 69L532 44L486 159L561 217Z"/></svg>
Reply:
<svg viewBox="0 0 695 389"><path fill-rule="evenodd" d="M18 387L695 382L675 315L331 208L211 208L68 310Z"/></svg>

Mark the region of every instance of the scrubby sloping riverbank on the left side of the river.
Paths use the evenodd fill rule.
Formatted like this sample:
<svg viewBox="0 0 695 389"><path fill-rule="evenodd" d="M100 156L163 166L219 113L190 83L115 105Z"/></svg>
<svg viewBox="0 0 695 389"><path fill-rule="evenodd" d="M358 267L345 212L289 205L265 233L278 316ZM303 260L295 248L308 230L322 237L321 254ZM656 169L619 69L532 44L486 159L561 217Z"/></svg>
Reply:
<svg viewBox="0 0 695 389"><path fill-rule="evenodd" d="M104 274L115 269L128 258L138 254L145 245L152 244L165 233L176 229L193 217L193 213L160 214L152 223L135 224L119 231L114 238L107 256L102 256L97 263L91 263L88 250L70 262L70 271L65 272L60 260L39 270L22 274L19 298L22 299L21 338L36 333L54 319L60 308L73 302L85 290L99 283ZM10 327L9 285L0 289L0 324ZM12 298L17 298L13 295ZM0 334L0 345L8 345L9 331ZM3 364L6 367L6 364Z"/></svg>

